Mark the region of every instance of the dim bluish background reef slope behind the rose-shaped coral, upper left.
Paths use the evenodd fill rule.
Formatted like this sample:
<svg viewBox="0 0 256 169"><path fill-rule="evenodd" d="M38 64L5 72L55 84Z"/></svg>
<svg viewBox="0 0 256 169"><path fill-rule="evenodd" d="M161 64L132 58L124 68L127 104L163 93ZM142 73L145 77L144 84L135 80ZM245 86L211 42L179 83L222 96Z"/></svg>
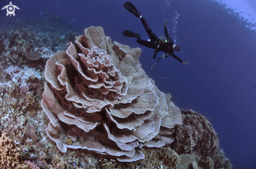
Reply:
<svg viewBox="0 0 256 169"><path fill-rule="evenodd" d="M31 24L32 23L32 24ZM77 31L56 20L52 15L41 18L14 18L0 32L0 71L9 66L31 65L43 71L46 60L54 52L64 51L66 42L74 41ZM40 55L26 53L38 52ZM33 61L30 58L38 60ZM1 68L2 67L2 68Z"/></svg>

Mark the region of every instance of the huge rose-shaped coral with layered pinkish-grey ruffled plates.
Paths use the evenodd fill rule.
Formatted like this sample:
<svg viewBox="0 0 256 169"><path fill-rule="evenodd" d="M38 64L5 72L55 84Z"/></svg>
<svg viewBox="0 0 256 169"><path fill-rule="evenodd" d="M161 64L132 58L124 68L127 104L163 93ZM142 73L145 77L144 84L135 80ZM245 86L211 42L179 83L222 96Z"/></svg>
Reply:
<svg viewBox="0 0 256 169"><path fill-rule="evenodd" d="M180 109L142 70L141 50L112 44L101 27L84 32L46 64L41 106L49 138L62 152L82 148L123 162L144 158L135 148L172 143Z"/></svg>

